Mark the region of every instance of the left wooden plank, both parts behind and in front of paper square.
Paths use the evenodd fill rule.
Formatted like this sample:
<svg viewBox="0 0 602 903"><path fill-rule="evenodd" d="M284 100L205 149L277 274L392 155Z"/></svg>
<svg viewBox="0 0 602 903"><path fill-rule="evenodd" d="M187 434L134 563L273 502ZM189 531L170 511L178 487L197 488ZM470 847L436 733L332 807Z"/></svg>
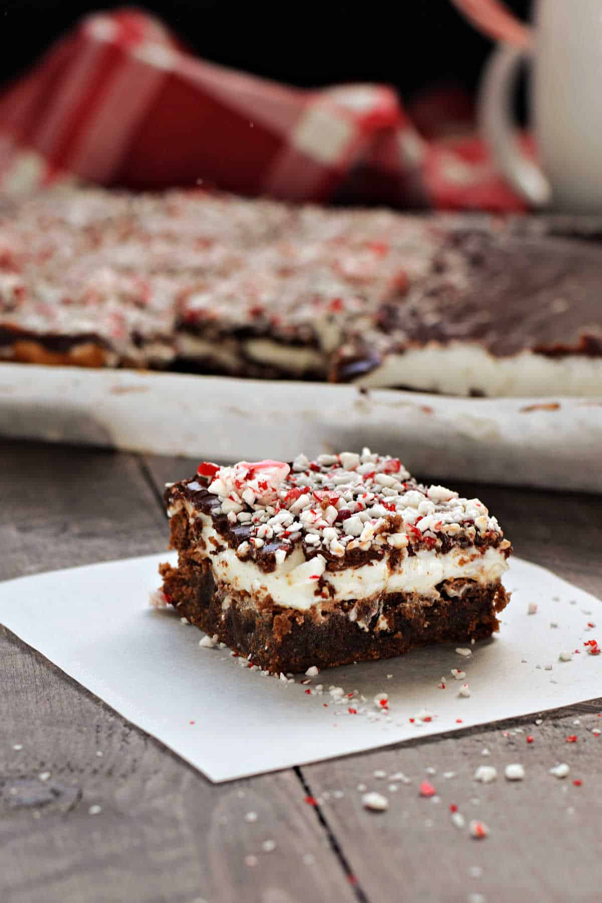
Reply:
<svg viewBox="0 0 602 903"><path fill-rule="evenodd" d="M0 492L2 578L167 542L132 455L4 443ZM1 630L0 685L3 901L355 899L294 771L212 785Z"/></svg>

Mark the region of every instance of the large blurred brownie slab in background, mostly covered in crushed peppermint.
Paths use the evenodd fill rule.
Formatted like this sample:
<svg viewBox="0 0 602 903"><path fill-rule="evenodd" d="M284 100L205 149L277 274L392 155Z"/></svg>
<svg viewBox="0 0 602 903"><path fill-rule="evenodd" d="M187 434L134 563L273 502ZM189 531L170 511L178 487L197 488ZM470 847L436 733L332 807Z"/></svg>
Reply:
<svg viewBox="0 0 602 903"><path fill-rule="evenodd" d="M0 209L0 358L597 395L602 247L544 222L48 192Z"/></svg>

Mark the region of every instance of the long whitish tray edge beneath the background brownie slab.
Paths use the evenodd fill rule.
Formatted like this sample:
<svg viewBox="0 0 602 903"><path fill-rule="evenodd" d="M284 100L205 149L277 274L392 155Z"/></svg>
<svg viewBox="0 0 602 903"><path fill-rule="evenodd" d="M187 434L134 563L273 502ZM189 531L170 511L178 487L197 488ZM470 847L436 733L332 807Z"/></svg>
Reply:
<svg viewBox="0 0 602 903"><path fill-rule="evenodd" d="M602 491L602 387L467 398L5 362L0 434L216 461L372 445L421 476Z"/></svg>

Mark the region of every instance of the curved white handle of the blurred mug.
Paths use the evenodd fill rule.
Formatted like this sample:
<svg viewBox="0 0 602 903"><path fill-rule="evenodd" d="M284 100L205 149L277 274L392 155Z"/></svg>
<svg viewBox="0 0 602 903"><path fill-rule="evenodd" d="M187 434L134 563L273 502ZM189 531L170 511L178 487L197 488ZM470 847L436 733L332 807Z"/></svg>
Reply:
<svg viewBox="0 0 602 903"><path fill-rule="evenodd" d="M545 207L551 201L550 182L537 163L523 154L512 112L518 65L524 56L530 56L528 48L508 44L495 48L486 62L477 116L481 135L507 181L533 207Z"/></svg>

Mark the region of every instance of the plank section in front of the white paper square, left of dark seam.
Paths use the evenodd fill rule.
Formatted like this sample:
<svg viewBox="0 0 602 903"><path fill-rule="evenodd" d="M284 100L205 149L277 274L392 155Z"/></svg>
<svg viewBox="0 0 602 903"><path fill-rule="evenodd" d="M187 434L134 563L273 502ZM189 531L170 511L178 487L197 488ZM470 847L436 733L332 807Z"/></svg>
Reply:
<svg viewBox="0 0 602 903"><path fill-rule="evenodd" d="M11 636L0 679L7 903L354 899L292 770L212 785Z"/></svg>

